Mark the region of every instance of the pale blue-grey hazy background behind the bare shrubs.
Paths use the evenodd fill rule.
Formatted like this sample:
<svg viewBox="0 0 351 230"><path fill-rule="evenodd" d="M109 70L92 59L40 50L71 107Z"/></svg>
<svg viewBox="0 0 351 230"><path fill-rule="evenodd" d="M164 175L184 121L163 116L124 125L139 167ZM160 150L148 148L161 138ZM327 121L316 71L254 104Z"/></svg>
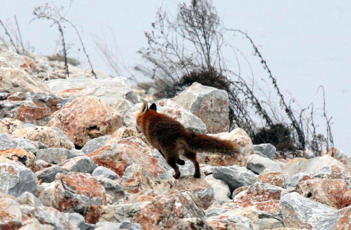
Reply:
<svg viewBox="0 0 351 230"><path fill-rule="evenodd" d="M61 48L57 26L48 21L29 21L34 18L33 9L47 1L0 0L0 17L6 22L16 15L22 39L35 47L34 53L50 55ZM120 61L129 70L144 62L137 51L147 47L144 31L151 31L157 9L163 4L176 15L181 1L54 1L64 6L66 18L81 31L81 37L95 70L113 72L95 49L94 39L105 42L116 51ZM185 1L187 4L190 0ZM323 107L322 91L325 88L327 115L332 118L332 134L335 147L351 155L351 4L350 1L248 1L213 0L218 15L227 28L247 32L267 65L277 78L280 90L286 98L293 95L302 108L314 103ZM112 39L112 32L116 42ZM3 34L2 28L0 33ZM74 32L66 28L66 41L79 45ZM251 63L256 81L268 80L267 74L252 55L252 46L243 36L233 38ZM116 46L117 45L117 46ZM72 46L69 56L79 58L82 67L88 69L78 46ZM234 65L234 58L227 60ZM245 66L243 66L245 68ZM247 67L246 67L247 68ZM123 70L123 76L128 72ZM245 74L243 74L245 75ZM249 71L247 76L250 77ZM139 79L143 79L139 76ZM144 79L146 80L146 79ZM275 92L272 90L272 94ZM289 101L289 100L288 100ZM317 118L318 119L318 118ZM324 120L317 120L325 130Z"/></svg>

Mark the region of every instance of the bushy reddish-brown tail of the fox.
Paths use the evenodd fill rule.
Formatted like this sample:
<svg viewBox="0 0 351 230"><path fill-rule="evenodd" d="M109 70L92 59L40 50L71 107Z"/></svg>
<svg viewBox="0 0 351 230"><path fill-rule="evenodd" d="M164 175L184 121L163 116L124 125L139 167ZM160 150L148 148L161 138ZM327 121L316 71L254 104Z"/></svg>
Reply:
<svg viewBox="0 0 351 230"><path fill-rule="evenodd" d="M204 134L187 132L184 139L187 148L194 152L234 155L235 153L239 153L241 149L237 143Z"/></svg>

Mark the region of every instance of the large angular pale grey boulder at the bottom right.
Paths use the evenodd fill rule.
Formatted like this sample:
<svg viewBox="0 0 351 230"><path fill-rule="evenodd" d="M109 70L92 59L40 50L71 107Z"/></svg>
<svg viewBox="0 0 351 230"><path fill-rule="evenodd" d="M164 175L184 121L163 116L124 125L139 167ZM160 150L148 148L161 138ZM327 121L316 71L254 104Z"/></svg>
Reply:
<svg viewBox="0 0 351 230"><path fill-rule="evenodd" d="M286 194L280 202L284 226L288 228L333 230L340 218L337 209L311 201L297 192Z"/></svg>

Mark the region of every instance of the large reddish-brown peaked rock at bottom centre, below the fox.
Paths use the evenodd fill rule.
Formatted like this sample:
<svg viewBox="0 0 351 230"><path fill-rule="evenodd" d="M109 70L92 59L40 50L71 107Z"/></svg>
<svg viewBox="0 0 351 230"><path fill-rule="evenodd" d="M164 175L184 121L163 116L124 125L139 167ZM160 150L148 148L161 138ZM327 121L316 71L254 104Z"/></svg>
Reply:
<svg viewBox="0 0 351 230"><path fill-rule="evenodd" d="M178 190L167 190L151 200L137 213L132 222L144 230L171 229L179 219L203 218L202 212Z"/></svg>

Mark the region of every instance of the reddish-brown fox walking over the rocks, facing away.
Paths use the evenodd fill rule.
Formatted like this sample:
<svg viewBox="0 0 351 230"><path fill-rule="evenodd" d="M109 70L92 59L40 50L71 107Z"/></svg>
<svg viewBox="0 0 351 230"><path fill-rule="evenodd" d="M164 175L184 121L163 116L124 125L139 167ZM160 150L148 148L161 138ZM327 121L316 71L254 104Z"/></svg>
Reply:
<svg viewBox="0 0 351 230"><path fill-rule="evenodd" d="M184 165L185 161L179 154L192 161L195 167L195 178L200 178L200 166L197 161L197 152L222 153L234 155L239 153L239 144L217 137L196 134L186 130L178 121L166 114L157 112L155 103L148 108L145 101L137 114L137 130L143 133L146 140L156 148L165 158L170 167L174 169L174 178L180 177L178 165Z"/></svg>

